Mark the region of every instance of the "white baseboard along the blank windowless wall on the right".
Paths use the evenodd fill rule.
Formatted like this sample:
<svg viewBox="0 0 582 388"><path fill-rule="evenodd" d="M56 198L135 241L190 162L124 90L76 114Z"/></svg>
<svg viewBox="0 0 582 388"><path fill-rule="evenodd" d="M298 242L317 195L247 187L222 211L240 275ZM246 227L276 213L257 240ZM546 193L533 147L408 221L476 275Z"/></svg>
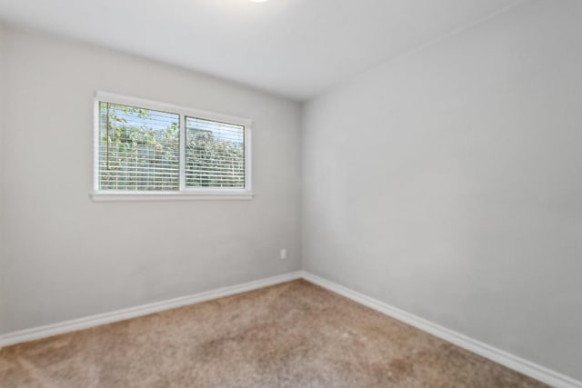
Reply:
<svg viewBox="0 0 582 388"><path fill-rule="evenodd" d="M495 363L500 363L504 366L507 366L507 368L513 369L514 371L526 374L527 376L530 376L542 383L547 383L557 388L582 388L582 382L579 382L571 377L547 369L546 367L538 365L537 363L524 360L523 358L517 357L514 354L507 353L493 346L487 345L487 343L481 343L477 340L467 337L466 335L454 332L436 323L431 323L411 313L406 313L403 310L400 310L387 303L380 302L374 298L366 296L363 293L356 293L356 291L344 287L343 285L335 284L324 278L316 276L315 274L307 273L306 271L302 272L301 277L303 277L307 282L317 284L329 291L346 296L346 298L351 299L356 303L364 304L365 306L370 307L379 313L384 313L392 318L397 319L398 321L414 326L423 332L431 333L449 343L454 343L463 349L467 349L469 352L477 353Z"/></svg>

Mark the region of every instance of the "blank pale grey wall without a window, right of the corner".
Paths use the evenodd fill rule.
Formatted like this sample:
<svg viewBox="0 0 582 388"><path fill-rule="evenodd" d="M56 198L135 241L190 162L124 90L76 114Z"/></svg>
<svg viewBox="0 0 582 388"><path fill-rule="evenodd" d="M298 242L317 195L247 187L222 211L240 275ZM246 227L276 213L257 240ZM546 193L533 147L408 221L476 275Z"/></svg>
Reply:
<svg viewBox="0 0 582 388"><path fill-rule="evenodd" d="M533 1L306 104L305 269L581 379L580 20Z"/></svg>

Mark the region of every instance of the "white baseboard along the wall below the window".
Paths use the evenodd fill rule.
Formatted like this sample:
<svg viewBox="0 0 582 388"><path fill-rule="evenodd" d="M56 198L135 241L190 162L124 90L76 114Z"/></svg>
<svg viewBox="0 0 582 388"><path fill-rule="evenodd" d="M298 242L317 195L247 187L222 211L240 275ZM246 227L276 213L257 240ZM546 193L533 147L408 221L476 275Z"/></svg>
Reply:
<svg viewBox="0 0 582 388"><path fill-rule="evenodd" d="M76 330L87 329L89 327L99 326L106 323L124 321L126 319L147 315L149 313L159 313L165 310L182 307L189 304L210 301L224 296L234 295L236 293L245 293L246 291L256 290L269 285L280 284L301 278L301 271L294 273L282 274L268 277L245 284L236 284L227 287L217 288L216 290L196 293L194 295L181 296L162 302L147 303L135 307L117 310L110 313L100 313L96 315L78 318L61 323L46 324L44 326L33 327L31 329L21 330L12 333L0 335L0 348L15 343L25 343L56 334L74 332Z"/></svg>

